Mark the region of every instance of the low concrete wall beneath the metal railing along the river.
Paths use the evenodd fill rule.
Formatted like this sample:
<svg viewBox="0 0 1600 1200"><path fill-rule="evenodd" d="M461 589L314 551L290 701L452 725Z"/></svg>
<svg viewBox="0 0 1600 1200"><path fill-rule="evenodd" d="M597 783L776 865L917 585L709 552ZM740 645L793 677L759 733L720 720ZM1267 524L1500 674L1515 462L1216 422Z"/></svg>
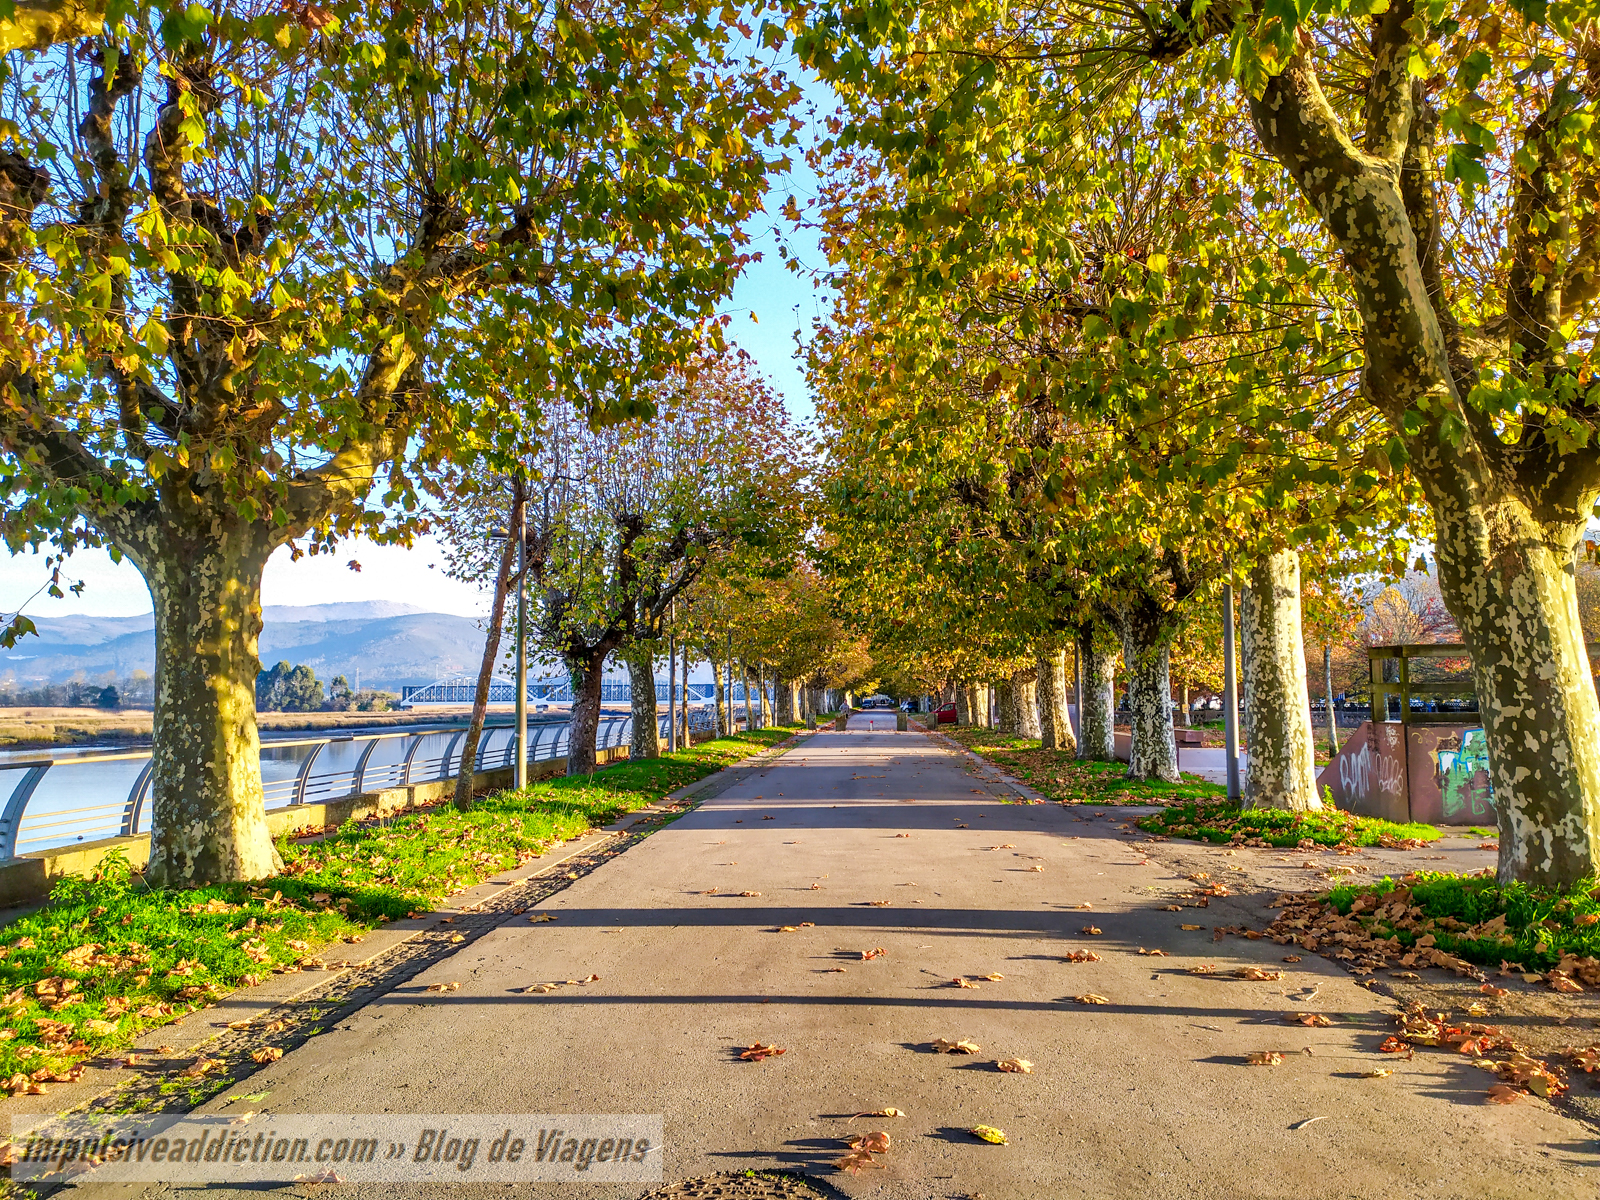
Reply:
<svg viewBox="0 0 1600 1200"><path fill-rule="evenodd" d="M613 763L627 757L626 746L598 750L598 763ZM514 770L502 766L494 771L475 771L472 789L510 787ZM528 763L528 779L550 779L566 774L566 758L546 758ZM267 829L272 837L294 835L298 830L322 832L325 826L342 826L346 821L365 821L374 816L392 816L410 808L438 803L456 792L454 779L430 779L408 787L384 787L378 792L362 792L317 805L290 805L267 810ZM102 858L120 850L134 867L150 861L150 835L106 837L96 842L77 842L70 846L37 850L30 854L0 862L0 909L19 904L37 904L50 896L50 890L64 875L88 875Z"/></svg>

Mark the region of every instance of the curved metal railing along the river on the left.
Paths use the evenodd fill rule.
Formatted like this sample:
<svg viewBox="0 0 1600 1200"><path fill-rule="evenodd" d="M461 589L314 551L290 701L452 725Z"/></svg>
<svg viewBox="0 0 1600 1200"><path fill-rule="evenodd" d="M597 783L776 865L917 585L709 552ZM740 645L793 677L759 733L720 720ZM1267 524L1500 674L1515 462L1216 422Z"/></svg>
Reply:
<svg viewBox="0 0 1600 1200"><path fill-rule="evenodd" d="M658 722L664 742L667 715L661 714ZM691 730L706 731L710 726L709 710L690 709ZM261 744L266 806L291 808L451 779L461 771L466 733L466 726L446 725L266 741ZM530 725L528 762L565 757L570 733L566 722ZM632 736L632 717L602 714L595 749L629 746ZM515 726L486 725L475 770L501 770L510 766L515 757ZM0 795L6 797L0 810L0 859L149 830L152 771L154 760L147 749L0 762ZM5 790L8 778L10 794Z"/></svg>

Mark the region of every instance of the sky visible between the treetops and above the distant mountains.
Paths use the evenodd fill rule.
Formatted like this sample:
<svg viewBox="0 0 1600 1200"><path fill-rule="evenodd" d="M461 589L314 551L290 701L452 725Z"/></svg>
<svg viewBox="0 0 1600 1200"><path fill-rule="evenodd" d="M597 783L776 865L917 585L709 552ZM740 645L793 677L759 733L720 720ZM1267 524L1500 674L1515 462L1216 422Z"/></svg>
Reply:
<svg viewBox="0 0 1600 1200"><path fill-rule="evenodd" d="M805 91L805 104L826 104L827 93L821 85L808 82ZM810 138L810 133L806 130L803 136ZM811 397L795 358L795 331L810 331L811 322L822 315L826 296L811 286L808 277L784 267L773 235L774 224L782 221L779 211L784 200L794 194L805 202L814 194L814 176L800 162L798 152L794 157L794 168L774 181L765 218L750 226L750 248L762 254L762 261L744 272L725 312L733 317L730 336L750 352L790 414L797 421L810 421ZM810 232L787 230L786 237L808 267L822 266L821 250ZM750 320L752 314L755 320ZM136 616L150 611L150 594L139 573L130 563L112 563L102 550L85 550L72 557L66 574L82 579L85 590L80 597L69 594L64 600L46 595L29 600L45 581L42 557L3 555L5 550L0 550L0 613L16 611L19 605L26 605L29 616L35 618ZM346 568L350 558L362 563L360 573ZM405 600L437 613L485 614L488 597L474 586L445 576L442 563L443 555L430 539L422 539L410 550L349 542L338 555L302 557L299 562L290 562L285 549L267 563L261 600L264 605Z"/></svg>

